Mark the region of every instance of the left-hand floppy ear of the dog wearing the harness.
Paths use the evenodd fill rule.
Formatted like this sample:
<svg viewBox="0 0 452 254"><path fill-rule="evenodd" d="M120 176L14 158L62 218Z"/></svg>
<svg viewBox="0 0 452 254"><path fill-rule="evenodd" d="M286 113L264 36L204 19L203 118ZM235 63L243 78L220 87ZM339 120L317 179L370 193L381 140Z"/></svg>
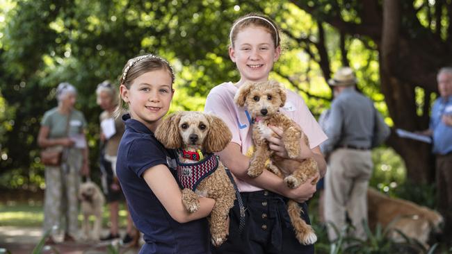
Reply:
<svg viewBox="0 0 452 254"><path fill-rule="evenodd" d="M179 121L183 112L168 115L155 131L155 137L167 149L178 149L182 146L182 137L179 134Z"/></svg>

